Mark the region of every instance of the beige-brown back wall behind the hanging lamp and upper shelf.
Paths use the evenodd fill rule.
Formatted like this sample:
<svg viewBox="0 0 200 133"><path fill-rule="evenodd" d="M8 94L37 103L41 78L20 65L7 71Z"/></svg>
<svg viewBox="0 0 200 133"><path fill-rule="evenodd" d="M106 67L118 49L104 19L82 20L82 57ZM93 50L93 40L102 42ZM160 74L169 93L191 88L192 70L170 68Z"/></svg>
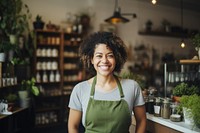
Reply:
<svg viewBox="0 0 200 133"><path fill-rule="evenodd" d="M33 15L33 19L37 14L42 15L46 23L51 21L55 24L63 24L66 21L67 13L80 13L81 11L89 11L94 15L92 17L92 31L98 31L100 24L104 23L104 19L110 17L114 11L114 0L23 0L28 4ZM137 18L126 16L130 19L129 23L118 24L117 33L126 42L127 45L133 47L139 44L156 48L160 58L165 52L173 52L176 56L186 56L192 58L193 48L187 45L185 49L180 48L179 38L169 37L152 37L138 35L138 31L144 28L147 19L153 21L153 29L161 25L162 19L169 20L172 24L180 25L180 9L173 7L152 5L147 2L136 0L119 0L121 12L136 13ZM200 14L184 10L184 27L189 29L200 30ZM186 44L190 42L186 40Z"/></svg>

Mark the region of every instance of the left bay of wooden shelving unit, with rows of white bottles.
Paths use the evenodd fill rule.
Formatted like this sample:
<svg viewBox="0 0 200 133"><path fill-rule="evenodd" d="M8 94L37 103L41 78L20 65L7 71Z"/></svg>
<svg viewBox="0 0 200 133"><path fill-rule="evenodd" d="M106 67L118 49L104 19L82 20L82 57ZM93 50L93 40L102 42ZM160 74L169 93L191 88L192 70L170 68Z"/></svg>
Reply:
<svg viewBox="0 0 200 133"><path fill-rule="evenodd" d="M41 95L35 98L36 127L62 122L62 34L36 31L33 71Z"/></svg>

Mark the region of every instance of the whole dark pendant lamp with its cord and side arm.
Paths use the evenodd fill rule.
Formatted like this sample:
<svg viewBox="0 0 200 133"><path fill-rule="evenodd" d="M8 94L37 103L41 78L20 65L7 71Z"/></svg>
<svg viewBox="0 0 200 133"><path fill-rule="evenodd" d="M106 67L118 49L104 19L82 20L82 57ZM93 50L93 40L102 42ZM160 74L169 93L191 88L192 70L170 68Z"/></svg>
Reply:
<svg viewBox="0 0 200 133"><path fill-rule="evenodd" d="M111 24L117 24L117 23L127 23L130 21L129 19L123 17L122 15L132 15L133 18L136 18L136 14L134 13L121 14L121 9L120 7L118 7L118 0L115 0L115 9L114 9L113 16L105 19L105 22L108 22Z"/></svg>

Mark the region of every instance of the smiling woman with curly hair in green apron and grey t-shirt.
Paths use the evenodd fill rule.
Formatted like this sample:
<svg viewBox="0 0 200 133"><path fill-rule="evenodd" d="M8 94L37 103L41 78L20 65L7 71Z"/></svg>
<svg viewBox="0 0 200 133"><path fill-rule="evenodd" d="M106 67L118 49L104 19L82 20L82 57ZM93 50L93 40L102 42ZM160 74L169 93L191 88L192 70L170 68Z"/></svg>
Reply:
<svg viewBox="0 0 200 133"><path fill-rule="evenodd" d="M78 132L81 119L86 133L128 133L132 111L136 132L144 133L146 111L141 89L136 81L115 75L127 60L121 38L111 32L94 33L81 44L80 56L94 76L72 91L69 133Z"/></svg>

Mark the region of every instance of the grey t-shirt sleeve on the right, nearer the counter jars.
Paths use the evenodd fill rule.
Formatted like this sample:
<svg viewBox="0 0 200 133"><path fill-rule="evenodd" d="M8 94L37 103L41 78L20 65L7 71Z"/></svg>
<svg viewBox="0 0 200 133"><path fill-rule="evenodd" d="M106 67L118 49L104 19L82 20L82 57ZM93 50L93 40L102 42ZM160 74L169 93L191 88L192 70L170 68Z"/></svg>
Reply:
<svg viewBox="0 0 200 133"><path fill-rule="evenodd" d="M142 95L142 90L137 82L134 82L135 84L135 100L134 100L134 105L133 106L140 106L144 105L144 97Z"/></svg>

